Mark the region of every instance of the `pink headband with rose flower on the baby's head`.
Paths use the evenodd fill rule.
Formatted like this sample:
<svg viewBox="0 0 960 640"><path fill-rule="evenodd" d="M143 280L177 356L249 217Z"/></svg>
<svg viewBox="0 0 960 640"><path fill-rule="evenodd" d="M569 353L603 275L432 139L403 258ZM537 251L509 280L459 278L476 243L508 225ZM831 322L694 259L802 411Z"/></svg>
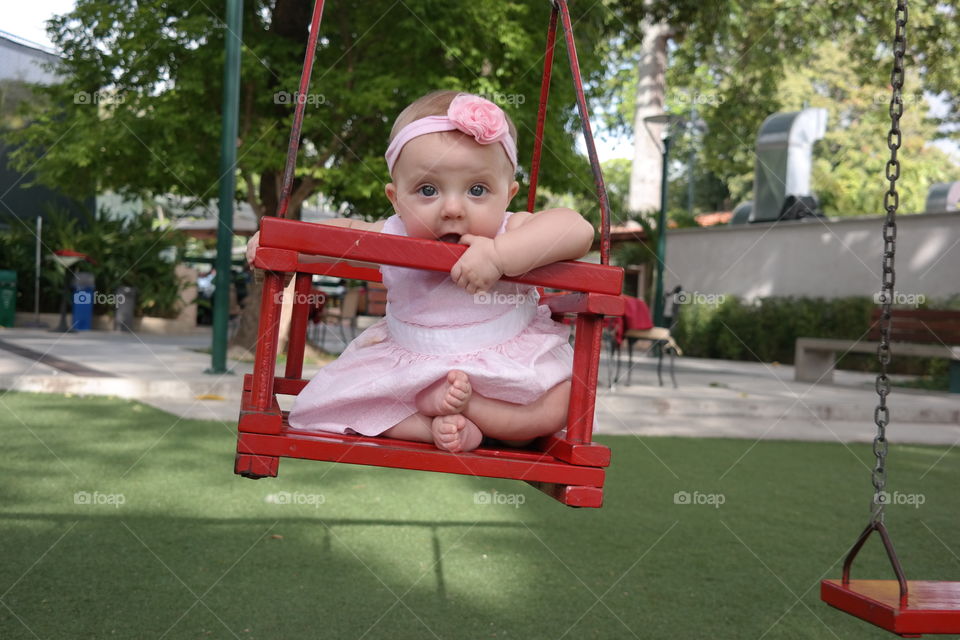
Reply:
<svg viewBox="0 0 960 640"><path fill-rule="evenodd" d="M393 165L405 144L428 133L454 130L473 136L478 144L499 142L516 172L517 142L510 135L510 127L503 111L480 96L461 93L450 103L447 115L420 118L400 129L384 154L390 173L393 173Z"/></svg>

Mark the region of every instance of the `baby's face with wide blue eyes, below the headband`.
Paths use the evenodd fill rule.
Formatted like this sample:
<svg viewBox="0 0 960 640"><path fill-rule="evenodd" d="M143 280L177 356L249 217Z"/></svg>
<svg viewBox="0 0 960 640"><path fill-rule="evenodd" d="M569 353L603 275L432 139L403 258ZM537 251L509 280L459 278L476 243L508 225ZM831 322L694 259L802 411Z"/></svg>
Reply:
<svg viewBox="0 0 960 640"><path fill-rule="evenodd" d="M387 197L414 238L457 242L492 238L517 189L500 144L478 144L458 131L408 142L393 167Z"/></svg>

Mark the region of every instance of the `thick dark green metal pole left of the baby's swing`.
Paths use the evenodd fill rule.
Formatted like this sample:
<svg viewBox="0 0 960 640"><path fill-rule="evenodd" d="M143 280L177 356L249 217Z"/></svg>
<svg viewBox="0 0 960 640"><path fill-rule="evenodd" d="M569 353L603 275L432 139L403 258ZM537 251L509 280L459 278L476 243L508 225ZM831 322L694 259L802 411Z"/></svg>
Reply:
<svg viewBox="0 0 960 640"><path fill-rule="evenodd" d="M243 0L227 0L226 60L223 68L223 120L220 126L220 214L217 225L216 291L213 294L213 349L207 373L227 372L230 313L230 262L233 249L233 196L236 188L237 120L240 107L240 38Z"/></svg>

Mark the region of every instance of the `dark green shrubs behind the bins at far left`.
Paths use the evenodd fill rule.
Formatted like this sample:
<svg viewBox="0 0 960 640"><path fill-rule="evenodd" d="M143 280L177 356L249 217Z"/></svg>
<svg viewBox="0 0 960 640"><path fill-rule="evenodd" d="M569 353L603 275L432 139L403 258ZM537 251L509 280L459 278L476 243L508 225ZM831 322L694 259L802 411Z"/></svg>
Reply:
<svg viewBox="0 0 960 640"><path fill-rule="evenodd" d="M10 229L0 233L0 264L18 272L17 307L33 310L34 245L33 228L8 217ZM51 211L44 216L43 244L46 254L53 249L72 249L94 262L79 263L74 271L88 271L96 278L96 289L114 293L117 287L137 289L137 315L175 317L182 284L176 278L174 258L186 239L170 228L159 228L148 214L113 218L101 212L86 219ZM47 255L40 270L40 310L59 310L64 269ZM96 313L111 307L97 304Z"/></svg>

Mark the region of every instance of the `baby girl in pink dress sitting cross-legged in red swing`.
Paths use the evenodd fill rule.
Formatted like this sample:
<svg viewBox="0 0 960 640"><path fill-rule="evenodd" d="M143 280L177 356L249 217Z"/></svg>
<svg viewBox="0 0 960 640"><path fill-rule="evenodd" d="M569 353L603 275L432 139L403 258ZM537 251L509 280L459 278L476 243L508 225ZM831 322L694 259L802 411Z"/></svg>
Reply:
<svg viewBox="0 0 960 640"><path fill-rule="evenodd" d="M579 258L579 213L506 211L519 189L517 132L495 104L430 93L397 117L386 152L395 214L325 224L466 245L450 273L382 266L386 316L297 396L290 426L382 435L470 451L484 436L522 445L563 428L569 329L534 287L502 282ZM257 236L248 245L252 258ZM306 259L306 257L305 257Z"/></svg>

